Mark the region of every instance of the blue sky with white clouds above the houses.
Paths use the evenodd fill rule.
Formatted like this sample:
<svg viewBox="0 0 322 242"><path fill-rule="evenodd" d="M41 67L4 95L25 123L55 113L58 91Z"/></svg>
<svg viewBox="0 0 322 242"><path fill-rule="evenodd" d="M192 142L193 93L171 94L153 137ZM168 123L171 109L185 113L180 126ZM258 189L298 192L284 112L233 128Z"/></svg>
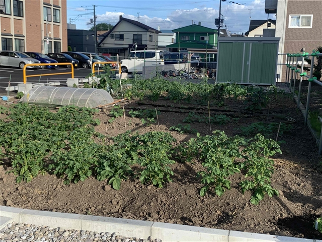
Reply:
<svg viewBox="0 0 322 242"><path fill-rule="evenodd" d="M224 25L231 33L248 31L250 17L252 20L267 19L265 0L226 0L221 3ZM172 30L198 22L202 26L217 29L214 19L219 16L219 0L67 0L68 23L76 24L77 29L91 28L93 24L88 23L93 19L93 5L97 6L97 24L115 25L122 15L155 29L160 26L161 30ZM269 18L275 19L275 14L270 14Z"/></svg>

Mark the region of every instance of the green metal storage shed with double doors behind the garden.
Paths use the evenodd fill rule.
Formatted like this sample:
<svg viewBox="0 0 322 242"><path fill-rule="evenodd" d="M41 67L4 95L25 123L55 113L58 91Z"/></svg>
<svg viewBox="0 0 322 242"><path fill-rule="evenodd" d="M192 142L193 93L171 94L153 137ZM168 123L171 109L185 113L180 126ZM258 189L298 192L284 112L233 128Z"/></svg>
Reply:
<svg viewBox="0 0 322 242"><path fill-rule="evenodd" d="M279 41L272 37L219 37L217 82L275 85Z"/></svg>

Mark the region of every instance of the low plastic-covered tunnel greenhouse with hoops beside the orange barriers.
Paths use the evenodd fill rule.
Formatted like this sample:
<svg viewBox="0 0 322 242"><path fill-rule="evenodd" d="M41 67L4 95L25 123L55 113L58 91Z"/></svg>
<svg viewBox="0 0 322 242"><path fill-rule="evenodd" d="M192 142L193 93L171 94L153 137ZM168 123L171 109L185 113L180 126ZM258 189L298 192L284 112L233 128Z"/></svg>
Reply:
<svg viewBox="0 0 322 242"><path fill-rule="evenodd" d="M27 92L20 101L30 104L95 108L112 103L113 98L103 89L39 86Z"/></svg>

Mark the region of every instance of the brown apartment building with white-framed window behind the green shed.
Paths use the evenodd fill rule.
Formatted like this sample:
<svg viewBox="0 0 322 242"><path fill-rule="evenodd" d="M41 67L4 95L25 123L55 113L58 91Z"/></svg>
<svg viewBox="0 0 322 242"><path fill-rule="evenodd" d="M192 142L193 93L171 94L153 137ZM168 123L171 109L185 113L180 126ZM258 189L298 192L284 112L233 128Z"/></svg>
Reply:
<svg viewBox="0 0 322 242"><path fill-rule="evenodd" d="M286 63L286 53L302 48L311 53L322 46L322 0L266 0L265 12L276 14L275 37L281 38L278 63ZM285 80L285 70L278 66L281 80Z"/></svg>

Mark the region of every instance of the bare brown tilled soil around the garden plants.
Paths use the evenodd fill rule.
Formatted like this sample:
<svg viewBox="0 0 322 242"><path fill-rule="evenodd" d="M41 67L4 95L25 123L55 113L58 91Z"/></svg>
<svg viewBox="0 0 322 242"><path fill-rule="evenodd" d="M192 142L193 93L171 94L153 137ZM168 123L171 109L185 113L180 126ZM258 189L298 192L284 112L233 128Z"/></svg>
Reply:
<svg viewBox="0 0 322 242"><path fill-rule="evenodd" d="M239 119L231 120L223 126L211 125L211 130L223 130L230 136L239 133L236 129L239 126L272 120L267 116L268 108L261 113L252 113L245 112L243 105L234 100L225 104L221 108L211 107L211 113L230 113L231 119ZM143 126L139 118L129 116L126 117L126 128L124 117L107 124L110 117L105 111L97 114L101 125L96 127L96 131L108 137L127 130L140 134L149 131L170 132L171 126L183 124L181 121L187 116L187 112L208 113L207 105L188 105L167 100L132 102L126 109L155 107L161 112L158 116L159 126ZM39 175L28 184L16 184L15 176L6 173L10 168L5 163L0 166L0 204L25 209L322 239L322 234L313 228L314 220L322 213L322 174L314 139L292 101L285 99L272 102L269 108L270 114L285 114L295 118L296 122L293 123L291 132L279 138L286 141L286 144L281 145L283 154L274 157L272 186L278 189L280 195L273 198L266 196L258 206L250 203L250 192L245 195L240 193L238 183L243 174L231 177L231 190L226 191L222 197L215 194L200 197L202 184L196 174L203 167L197 161L172 165L173 182L162 189L144 186L137 178L133 178L122 181L119 191L107 186L107 181L98 181L94 177L78 184L63 185L63 179L51 174ZM201 135L211 134L209 124L194 123L191 127ZM195 137L194 134L170 133L179 142Z"/></svg>

